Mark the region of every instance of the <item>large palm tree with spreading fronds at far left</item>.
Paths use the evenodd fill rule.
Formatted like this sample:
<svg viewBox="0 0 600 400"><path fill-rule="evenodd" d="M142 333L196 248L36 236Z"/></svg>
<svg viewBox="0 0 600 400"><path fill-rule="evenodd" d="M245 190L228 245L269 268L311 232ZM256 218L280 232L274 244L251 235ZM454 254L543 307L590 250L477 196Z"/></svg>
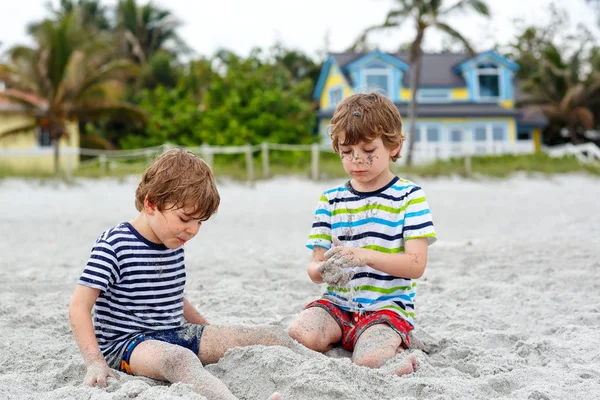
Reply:
<svg viewBox="0 0 600 400"><path fill-rule="evenodd" d="M122 80L137 73L130 61L114 59L110 39L86 32L71 13L46 20L34 32L35 47L16 46L0 64L0 80L8 90L0 96L25 107L34 123L0 132L19 134L43 124L54 146L59 168L59 141L68 137L67 124L105 116L144 120L137 107L122 102Z"/></svg>

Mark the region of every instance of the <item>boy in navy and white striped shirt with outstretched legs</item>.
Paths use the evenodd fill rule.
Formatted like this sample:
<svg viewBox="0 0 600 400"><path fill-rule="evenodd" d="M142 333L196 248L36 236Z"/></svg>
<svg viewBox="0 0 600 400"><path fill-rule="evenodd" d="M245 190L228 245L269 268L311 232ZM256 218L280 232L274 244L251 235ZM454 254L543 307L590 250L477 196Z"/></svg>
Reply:
<svg viewBox="0 0 600 400"><path fill-rule="evenodd" d="M232 347L292 346L275 326L210 325L185 298L183 245L219 203L210 167L191 152L167 151L146 170L135 193L139 214L96 240L71 300L84 384L105 387L113 368L188 383L209 399L236 399L202 364Z"/></svg>

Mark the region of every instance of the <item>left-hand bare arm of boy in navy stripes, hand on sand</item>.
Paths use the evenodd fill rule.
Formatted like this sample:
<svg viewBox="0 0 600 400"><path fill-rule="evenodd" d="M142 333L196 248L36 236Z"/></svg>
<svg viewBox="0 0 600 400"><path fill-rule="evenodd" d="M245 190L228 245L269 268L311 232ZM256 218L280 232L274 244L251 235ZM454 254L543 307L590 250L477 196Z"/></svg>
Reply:
<svg viewBox="0 0 600 400"><path fill-rule="evenodd" d="M106 387L107 378L115 378L115 375L106 364L94 333L92 308L99 295L99 289L77 285L69 307L69 318L73 336L87 367L83 383L87 386L98 384Z"/></svg>

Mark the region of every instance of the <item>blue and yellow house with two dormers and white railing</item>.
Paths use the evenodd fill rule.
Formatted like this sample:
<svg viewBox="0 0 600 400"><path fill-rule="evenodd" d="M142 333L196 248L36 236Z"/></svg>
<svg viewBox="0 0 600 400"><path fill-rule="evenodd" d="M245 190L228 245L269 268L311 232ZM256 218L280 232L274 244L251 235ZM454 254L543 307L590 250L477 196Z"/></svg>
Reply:
<svg viewBox="0 0 600 400"><path fill-rule="evenodd" d="M475 56L424 54L417 92L415 161L539 150L540 132L547 121L515 107L518 69L495 51ZM329 142L328 127L339 102L352 93L373 90L394 101L407 133L409 80L409 55L405 53L329 54L314 92L323 142Z"/></svg>

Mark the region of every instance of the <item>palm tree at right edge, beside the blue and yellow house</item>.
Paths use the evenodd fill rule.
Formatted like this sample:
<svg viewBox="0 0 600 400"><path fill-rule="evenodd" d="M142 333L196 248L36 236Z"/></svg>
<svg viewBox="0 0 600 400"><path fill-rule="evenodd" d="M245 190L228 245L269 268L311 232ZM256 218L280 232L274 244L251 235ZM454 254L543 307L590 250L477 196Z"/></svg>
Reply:
<svg viewBox="0 0 600 400"><path fill-rule="evenodd" d="M598 117L600 49L585 30L578 29L576 35L559 32L566 14L551 11L548 26L523 28L508 56L521 66L517 78L524 95L518 104L548 118L547 141L555 141L566 128L571 142L578 143L584 140L581 129L593 129Z"/></svg>

